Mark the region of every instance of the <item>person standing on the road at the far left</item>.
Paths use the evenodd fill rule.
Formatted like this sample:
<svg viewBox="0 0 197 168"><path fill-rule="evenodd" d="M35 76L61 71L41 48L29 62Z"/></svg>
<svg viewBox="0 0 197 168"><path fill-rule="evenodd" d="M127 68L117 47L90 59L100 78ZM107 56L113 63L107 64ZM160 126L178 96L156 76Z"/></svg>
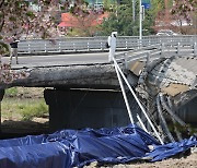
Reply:
<svg viewBox="0 0 197 168"><path fill-rule="evenodd" d="M15 57L16 64L19 64L18 61L18 43L20 40L16 38L16 34L12 37L12 43L10 43L11 47L11 55L10 55L10 64L12 63L12 57Z"/></svg>

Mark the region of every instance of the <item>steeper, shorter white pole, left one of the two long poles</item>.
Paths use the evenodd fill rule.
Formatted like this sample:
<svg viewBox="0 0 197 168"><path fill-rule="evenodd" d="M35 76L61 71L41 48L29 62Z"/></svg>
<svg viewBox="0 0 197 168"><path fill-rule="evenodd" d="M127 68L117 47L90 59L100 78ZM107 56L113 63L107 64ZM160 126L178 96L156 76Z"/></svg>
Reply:
<svg viewBox="0 0 197 168"><path fill-rule="evenodd" d="M115 59L114 59L114 61L115 61ZM117 74L117 77L118 77L118 81L119 81L119 85L120 85L120 88L121 88L121 93L123 93L123 96L124 96L124 99L125 99L125 104L126 104L126 107L127 107L127 111L128 111L128 115L129 115L130 122L134 123L134 118L132 118L132 115L131 115L131 111L130 111L130 107L129 107L129 103L128 103L128 99L127 99L127 95L125 93L123 81L121 81L121 77L120 77L119 72L117 70L117 64L115 62L114 62L114 65L115 65L116 74Z"/></svg>

